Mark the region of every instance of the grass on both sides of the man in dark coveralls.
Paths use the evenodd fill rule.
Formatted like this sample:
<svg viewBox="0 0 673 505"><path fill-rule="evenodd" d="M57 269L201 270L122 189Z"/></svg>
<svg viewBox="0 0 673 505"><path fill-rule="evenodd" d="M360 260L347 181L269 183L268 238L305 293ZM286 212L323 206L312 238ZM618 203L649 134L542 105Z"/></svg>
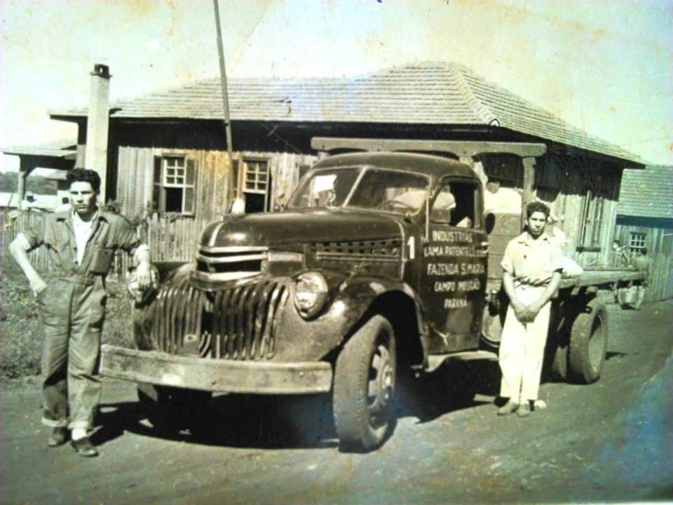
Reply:
<svg viewBox="0 0 673 505"><path fill-rule="evenodd" d="M108 280L102 342L132 346L132 300L123 282ZM43 329L38 304L18 267L0 271L0 378L40 373Z"/></svg>

